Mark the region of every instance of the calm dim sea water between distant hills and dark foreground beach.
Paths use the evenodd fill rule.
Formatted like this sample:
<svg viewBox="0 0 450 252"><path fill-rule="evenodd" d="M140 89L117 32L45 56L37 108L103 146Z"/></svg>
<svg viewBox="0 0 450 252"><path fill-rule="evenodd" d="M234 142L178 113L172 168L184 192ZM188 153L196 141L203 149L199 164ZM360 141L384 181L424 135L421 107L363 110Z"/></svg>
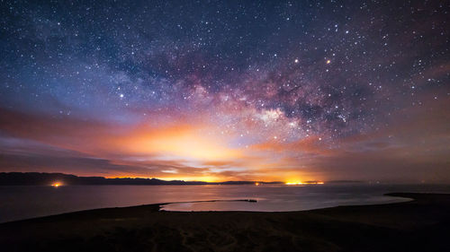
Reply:
<svg viewBox="0 0 450 252"><path fill-rule="evenodd" d="M169 211L296 211L349 204L383 204L408 199L389 192L450 193L443 185L336 184L307 186L67 186L0 187L0 222L57 213L138 204L167 204ZM248 202L185 203L257 199Z"/></svg>

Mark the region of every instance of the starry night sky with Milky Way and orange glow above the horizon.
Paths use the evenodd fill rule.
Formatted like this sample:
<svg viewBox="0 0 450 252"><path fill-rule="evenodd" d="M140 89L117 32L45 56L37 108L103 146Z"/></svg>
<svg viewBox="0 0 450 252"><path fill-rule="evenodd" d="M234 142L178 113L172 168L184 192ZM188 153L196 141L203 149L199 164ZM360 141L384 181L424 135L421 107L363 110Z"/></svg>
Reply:
<svg viewBox="0 0 450 252"><path fill-rule="evenodd" d="M0 171L450 181L448 1L92 2L0 2Z"/></svg>

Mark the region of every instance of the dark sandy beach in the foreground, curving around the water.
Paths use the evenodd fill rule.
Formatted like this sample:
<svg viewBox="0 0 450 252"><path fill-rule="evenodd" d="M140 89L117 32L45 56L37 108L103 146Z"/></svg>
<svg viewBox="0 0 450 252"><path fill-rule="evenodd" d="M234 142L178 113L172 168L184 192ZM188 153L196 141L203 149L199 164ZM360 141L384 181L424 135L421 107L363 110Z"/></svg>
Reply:
<svg viewBox="0 0 450 252"><path fill-rule="evenodd" d="M450 195L285 212L160 212L160 204L0 224L2 251L450 251ZM255 203L257 204L257 203Z"/></svg>

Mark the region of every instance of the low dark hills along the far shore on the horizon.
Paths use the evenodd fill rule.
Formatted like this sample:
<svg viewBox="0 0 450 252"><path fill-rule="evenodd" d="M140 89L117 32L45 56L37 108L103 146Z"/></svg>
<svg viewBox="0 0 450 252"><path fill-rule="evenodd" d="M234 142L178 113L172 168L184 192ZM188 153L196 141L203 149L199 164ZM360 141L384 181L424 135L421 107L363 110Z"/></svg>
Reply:
<svg viewBox="0 0 450 252"><path fill-rule="evenodd" d="M141 186L188 186L188 185L248 185L248 184L281 184L282 182L261 181L225 181L204 182L184 180L161 180L157 178L103 178L78 177L63 173L40 172L0 172L0 186L50 186L58 182L63 185L141 185Z"/></svg>

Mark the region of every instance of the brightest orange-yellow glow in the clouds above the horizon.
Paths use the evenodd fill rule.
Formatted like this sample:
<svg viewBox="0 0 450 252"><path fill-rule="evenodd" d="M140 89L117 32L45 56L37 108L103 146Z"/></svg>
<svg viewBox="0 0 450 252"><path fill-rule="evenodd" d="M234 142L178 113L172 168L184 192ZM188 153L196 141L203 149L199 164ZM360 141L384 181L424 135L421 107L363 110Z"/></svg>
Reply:
<svg viewBox="0 0 450 252"><path fill-rule="evenodd" d="M257 113L253 110L245 112ZM279 112L270 110L264 115L281 120L283 115L278 114ZM155 117L157 120L157 116ZM258 120L266 119L258 116ZM183 117L157 125L147 122L138 126L124 126L120 130L98 126L95 129L98 134L91 135L90 131L89 135L85 135L85 132L76 134L88 136L83 140L87 142L82 145L81 151L92 160L98 158L107 161L106 165L114 166L115 169L85 173L83 176L205 182L315 179L299 171L298 167L304 164L292 154L324 154L318 137L311 136L285 143L281 141L282 134L276 132L277 139L271 135L267 136L269 140L262 140L262 143L245 145L239 141L251 135L255 129L254 125L246 126L248 128L239 131L225 130L207 119L187 120ZM244 131L245 129L248 131ZM240 134L241 130L245 134ZM80 152L81 145L57 145ZM117 169L119 167L123 169ZM293 181L295 180L297 179Z"/></svg>

